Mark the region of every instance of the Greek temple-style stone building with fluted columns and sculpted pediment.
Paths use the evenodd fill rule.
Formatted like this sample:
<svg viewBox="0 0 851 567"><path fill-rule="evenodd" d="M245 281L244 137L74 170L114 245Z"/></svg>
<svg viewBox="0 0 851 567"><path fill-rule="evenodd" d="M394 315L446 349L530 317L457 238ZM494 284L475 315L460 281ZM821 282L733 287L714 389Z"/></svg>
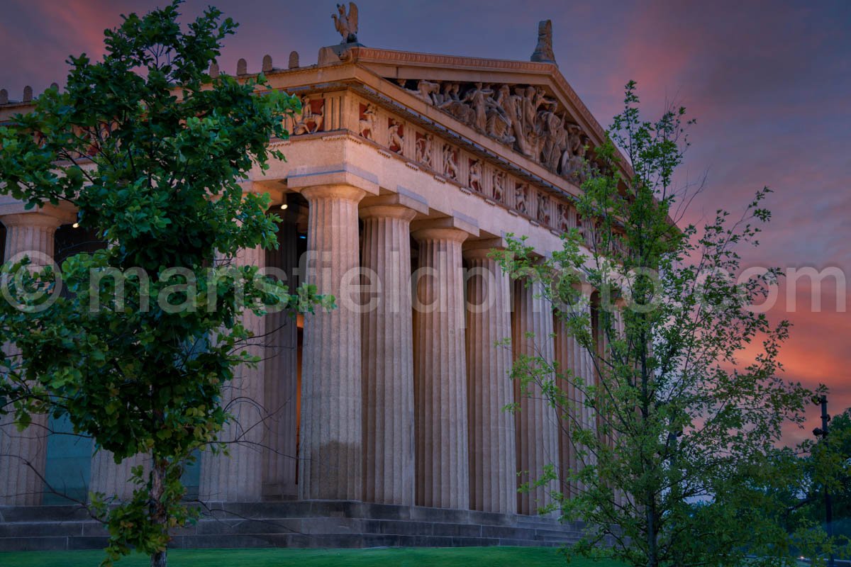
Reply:
<svg viewBox="0 0 851 567"><path fill-rule="evenodd" d="M263 60L272 87L297 94L303 110L288 124L290 139L270 142L287 161L245 182L272 196L283 217L280 247L238 259L284 269L293 283L306 278L340 303L357 296L346 288L351 269L371 270L380 292L367 293L373 309L341 305L298 320L249 321L268 334L264 360L243 369L228 395L257 401L237 405L235 414L242 426L263 427L229 458L203 454L186 484L193 496L250 518L354 522L294 530L332 540L268 529L229 541L210 536L220 546L563 541L568 529L528 518L547 497L544 490L518 494L528 476L517 473L577 463L551 408L540 396L521 396L508 372L512 356L532 348L526 332L555 332L538 348L588 380L591 364L534 287L510 281L488 251L505 246L507 233L528 236L542 256L561 248L559 235L577 226L583 157L603 130L559 72L549 22L541 23L531 60L367 48L357 43L357 12L341 14L337 27L344 43L322 48L317 65L300 66L298 54L286 69ZM237 74L251 77L244 60ZM0 121L31 104L3 96ZM6 258L22 250L60 257L87 246L72 228L73 211L24 212L3 199ZM511 346L495 345L506 337L514 337ZM503 411L514 401L521 411ZM140 456L115 465L90 439L44 434L47 424L42 417L23 433L2 428L0 454L24 456L33 467L0 456L0 549L22 545L10 535L20 534L12 530L16 518L47 522L54 526L48 536L82 538L77 546L102 544L83 537L82 517L74 516L78 533L74 522L33 508L63 503L45 483L77 498L89 490L126 496L129 467L144 463ZM236 428L226 435L237 436ZM422 525L393 531L414 519ZM211 545L202 527L181 536L187 546ZM546 530L552 539L541 535Z"/></svg>

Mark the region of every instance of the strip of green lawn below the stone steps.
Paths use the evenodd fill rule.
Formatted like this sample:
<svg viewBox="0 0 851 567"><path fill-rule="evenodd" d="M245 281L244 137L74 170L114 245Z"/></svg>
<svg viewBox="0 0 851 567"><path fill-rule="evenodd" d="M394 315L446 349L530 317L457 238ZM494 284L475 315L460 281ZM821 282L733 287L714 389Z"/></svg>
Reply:
<svg viewBox="0 0 851 567"><path fill-rule="evenodd" d="M99 551L4 552L3 567L95 567ZM173 567L564 567L555 549L543 547L454 547L408 549L175 549ZM148 559L134 555L117 567L143 567ZM571 567L614 567L614 563L576 560Z"/></svg>

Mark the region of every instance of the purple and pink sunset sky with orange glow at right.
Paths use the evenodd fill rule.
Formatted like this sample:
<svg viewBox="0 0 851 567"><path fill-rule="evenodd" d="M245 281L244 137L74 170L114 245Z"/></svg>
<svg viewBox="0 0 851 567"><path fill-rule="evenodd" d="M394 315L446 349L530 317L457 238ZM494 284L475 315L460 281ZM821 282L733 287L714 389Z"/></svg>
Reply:
<svg viewBox="0 0 851 567"><path fill-rule="evenodd" d="M301 64L340 41L330 15L334 1L188 0L198 14L214 3L240 23L226 41L223 70L248 60L259 71L271 54ZM103 30L120 14L146 12L158 1L3 0L0 9L0 88L20 99L63 83L69 54L103 54ZM619 110L623 86L638 83L643 111L658 116L671 102L697 119L680 183L704 179L688 221L711 218L719 207L739 213L763 185L774 190L774 218L762 246L742 250L745 266L839 269L851 276L851 2L711 2L596 0L362 0L361 43L494 59L528 60L537 22L551 19L559 70L597 120L607 126ZM831 412L851 407L851 315L848 286L827 279L821 309L799 281L797 309L786 309L785 284L769 312L789 319L781 351L785 377L831 388ZM837 297L841 296L841 297ZM845 303L846 310L837 308ZM808 410L804 430L818 423Z"/></svg>

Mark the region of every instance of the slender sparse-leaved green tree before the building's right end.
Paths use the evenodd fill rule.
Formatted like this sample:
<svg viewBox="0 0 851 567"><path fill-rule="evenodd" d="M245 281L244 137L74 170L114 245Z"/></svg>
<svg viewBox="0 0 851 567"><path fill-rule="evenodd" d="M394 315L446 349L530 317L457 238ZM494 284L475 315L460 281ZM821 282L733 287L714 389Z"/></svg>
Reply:
<svg viewBox="0 0 851 567"><path fill-rule="evenodd" d="M734 279L738 247L757 246L770 218L769 190L738 220L718 210L701 228L678 227L690 190L672 178L690 123L682 108L643 120L630 82L580 173L584 229L544 260L513 236L492 252L513 277L540 281L595 377L540 355L519 357L512 375L540 386L580 462L552 495L563 519L588 526L570 553L646 567L740 565L746 553L760 557L752 564L793 564L774 489L796 485L797 468L775 445L813 393L778 377L789 323L751 309L778 270ZM583 287L596 290L591 299ZM551 468L534 484L557 477Z"/></svg>

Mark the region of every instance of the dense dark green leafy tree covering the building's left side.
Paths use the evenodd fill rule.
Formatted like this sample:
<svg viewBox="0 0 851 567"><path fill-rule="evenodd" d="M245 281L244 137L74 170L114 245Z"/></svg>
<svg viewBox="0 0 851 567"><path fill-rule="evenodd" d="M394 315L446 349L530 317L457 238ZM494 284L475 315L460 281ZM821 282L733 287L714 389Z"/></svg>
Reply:
<svg viewBox="0 0 851 567"><path fill-rule="evenodd" d="M134 547L165 565L169 528L197 516L180 476L229 419L220 400L234 368L256 361L241 348L243 310L334 300L230 265L241 248L277 246L268 196L238 181L283 159L268 142L287 137L283 117L300 105L262 75L211 79L237 25L208 8L181 26L179 8L125 16L102 61L72 57L64 92L0 128L0 190L28 208L71 203L107 244L66 259L60 297L52 269L5 265L20 304L0 306L0 341L20 350L3 360L0 396L20 428L50 412L117 461L151 456L129 502L93 496L111 534L105 564Z"/></svg>

